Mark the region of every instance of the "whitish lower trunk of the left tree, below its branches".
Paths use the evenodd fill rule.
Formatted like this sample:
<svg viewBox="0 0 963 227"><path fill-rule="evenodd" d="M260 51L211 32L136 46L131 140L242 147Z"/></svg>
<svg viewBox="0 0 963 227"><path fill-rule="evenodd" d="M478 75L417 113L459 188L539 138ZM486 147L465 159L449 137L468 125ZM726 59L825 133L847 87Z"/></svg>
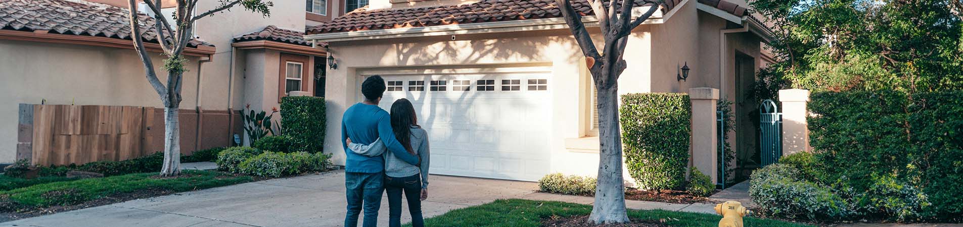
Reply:
<svg viewBox="0 0 963 227"><path fill-rule="evenodd" d="M164 108L164 167L161 176L180 174L180 120L177 107Z"/></svg>

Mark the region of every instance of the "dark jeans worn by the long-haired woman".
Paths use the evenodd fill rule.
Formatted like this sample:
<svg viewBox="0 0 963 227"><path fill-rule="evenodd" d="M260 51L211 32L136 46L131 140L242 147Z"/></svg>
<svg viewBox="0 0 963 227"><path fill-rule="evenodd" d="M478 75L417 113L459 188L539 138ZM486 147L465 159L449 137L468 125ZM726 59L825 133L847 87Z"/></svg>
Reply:
<svg viewBox="0 0 963 227"><path fill-rule="evenodd" d="M384 175L384 189L388 192L388 225L390 227L402 226L402 192L408 200L411 225L425 226L425 219L421 214L421 176L418 174L407 177Z"/></svg>

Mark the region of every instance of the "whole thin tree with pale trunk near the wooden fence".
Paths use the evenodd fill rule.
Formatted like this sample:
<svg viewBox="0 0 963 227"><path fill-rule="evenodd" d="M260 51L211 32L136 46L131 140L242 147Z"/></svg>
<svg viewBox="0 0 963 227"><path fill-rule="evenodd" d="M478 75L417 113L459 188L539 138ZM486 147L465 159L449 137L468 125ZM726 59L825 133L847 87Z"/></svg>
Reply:
<svg viewBox="0 0 963 227"><path fill-rule="evenodd" d="M153 28L147 29L154 29L154 33L157 35L157 41L159 42L158 44L160 44L164 52L164 66L162 69L168 73L167 85L161 83L161 80L157 78L154 63L151 61L150 55L143 48L144 31L142 31L141 28L141 14L137 11L139 0L127 0L127 6L128 9L130 9L128 20L130 21L131 39L134 40L134 49L137 50L137 53L141 57L141 62L143 62L147 82L154 88L154 91L157 91L157 95L160 96L161 102L164 104L164 166L161 168L161 176L176 176L180 174L180 121L178 120L177 110L180 107L183 74L186 70L184 63L187 63L187 59L183 53L184 49L187 48L188 42L194 38L192 32L194 31L195 21L204 16L231 9L236 5L241 5L248 11L254 13L262 13L265 16L270 16L271 12L268 8L273 7L273 2L262 0L219 0L221 5L217 8L205 13L195 14L197 2L200 0L177 0L175 11L171 14L173 18L172 21L174 21L177 26L176 29L174 29L174 27L170 26L167 16L161 13L161 9L163 9L163 6L161 6L162 0L142 1L144 5L147 5L147 8L150 9L150 12L153 13Z"/></svg>

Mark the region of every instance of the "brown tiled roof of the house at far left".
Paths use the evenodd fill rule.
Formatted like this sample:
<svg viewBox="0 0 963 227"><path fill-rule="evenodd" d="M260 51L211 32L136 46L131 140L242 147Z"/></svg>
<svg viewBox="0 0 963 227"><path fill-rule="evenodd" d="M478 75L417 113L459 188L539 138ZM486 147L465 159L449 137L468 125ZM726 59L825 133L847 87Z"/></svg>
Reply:
<svg viewBox="0 0 963 227"><path fill-rule="evenodd" d="M0 0L0 30L131 40L127 13L127 9L80 0ZM139 19L143 41L158 43L154 18L140 13ZM214 45L192 39L188 46Z"/></svg>

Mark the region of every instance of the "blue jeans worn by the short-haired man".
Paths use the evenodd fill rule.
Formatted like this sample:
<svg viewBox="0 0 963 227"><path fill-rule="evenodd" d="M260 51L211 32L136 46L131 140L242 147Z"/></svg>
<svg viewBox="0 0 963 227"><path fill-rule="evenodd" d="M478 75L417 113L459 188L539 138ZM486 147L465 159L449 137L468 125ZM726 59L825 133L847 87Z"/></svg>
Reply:
<svg viewBox="0 0 963 227"><path fill-rule="evenodd" d="M348 197L348 214L345 227L358 226L358 214L364 206L364 227L377 227L377 210L381 208L381 194L384 192L382 174L345 173L345 188Z"/></svg>

